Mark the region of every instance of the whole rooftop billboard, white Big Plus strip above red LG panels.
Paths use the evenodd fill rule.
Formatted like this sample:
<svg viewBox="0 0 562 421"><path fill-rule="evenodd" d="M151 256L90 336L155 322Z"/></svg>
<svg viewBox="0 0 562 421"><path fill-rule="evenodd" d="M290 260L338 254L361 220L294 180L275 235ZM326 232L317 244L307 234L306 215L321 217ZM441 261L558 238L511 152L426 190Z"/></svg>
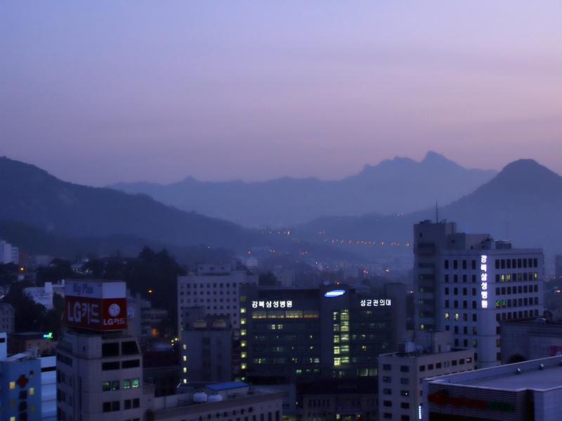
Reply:
<svg viewBox="0 0 562 421"><path fill-rule="evenodd" d="M126 323L124 282L67 281L65 324L92 330L124 330Z"/></svg>

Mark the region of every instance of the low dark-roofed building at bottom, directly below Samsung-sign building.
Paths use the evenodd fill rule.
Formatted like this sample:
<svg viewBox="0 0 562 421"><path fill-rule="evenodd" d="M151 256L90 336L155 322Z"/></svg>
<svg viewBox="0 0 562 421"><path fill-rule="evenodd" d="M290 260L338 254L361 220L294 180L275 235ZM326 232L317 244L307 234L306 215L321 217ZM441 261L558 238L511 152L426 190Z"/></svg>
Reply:
<svg viewBox="0 0 562 421"><path fill-rule="evenodd" d="M316 380L303 392L306 421L378 420L379 394L374 377Z"/></svg>

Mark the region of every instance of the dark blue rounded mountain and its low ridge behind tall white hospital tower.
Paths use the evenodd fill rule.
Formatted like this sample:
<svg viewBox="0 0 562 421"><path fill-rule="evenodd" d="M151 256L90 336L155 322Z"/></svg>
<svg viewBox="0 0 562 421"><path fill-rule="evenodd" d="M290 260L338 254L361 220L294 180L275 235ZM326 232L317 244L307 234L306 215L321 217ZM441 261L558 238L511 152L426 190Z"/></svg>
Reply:
<svg viewBox="0 0 562 421"><path fill-rule="evenodd" d="M457 222L463 232L509 239L516 248L562 253L562 177L532 159L509 163L471 194L438 208L438 220ZM412 225L436 220L436 208L405 215L367 214L318 218L292 227L297 238L412 242ZM322 234L320 234L322 233Z"/></svg>

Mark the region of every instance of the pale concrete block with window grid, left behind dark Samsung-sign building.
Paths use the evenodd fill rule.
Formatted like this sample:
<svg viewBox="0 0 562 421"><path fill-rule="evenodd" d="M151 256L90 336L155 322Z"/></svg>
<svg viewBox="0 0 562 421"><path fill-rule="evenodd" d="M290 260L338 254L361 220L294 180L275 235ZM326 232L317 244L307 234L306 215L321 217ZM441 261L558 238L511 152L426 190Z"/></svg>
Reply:
<svg viewBox="0 0 562 421"><path fill-rule="evenodd" d="M237 260L229 264L197 265L197 273L178 276L178 332L183 325L185 307L204 307L209 316L230 316L234 328L240 328L240 286L258 284L258 276L237 269Z"/></svg>

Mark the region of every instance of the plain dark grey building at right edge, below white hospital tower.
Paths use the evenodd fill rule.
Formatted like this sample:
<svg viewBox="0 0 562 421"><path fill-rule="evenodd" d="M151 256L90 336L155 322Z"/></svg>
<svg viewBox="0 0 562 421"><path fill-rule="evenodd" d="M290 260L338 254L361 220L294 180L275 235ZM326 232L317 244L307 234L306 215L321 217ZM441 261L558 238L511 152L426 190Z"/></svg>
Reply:
<svg viewBox="0 0 562 421"><path fill-rule="evenodd" d="M504 320L499 322L502 338L502 364L560 356L562 323L545 319Z"/></svg>

